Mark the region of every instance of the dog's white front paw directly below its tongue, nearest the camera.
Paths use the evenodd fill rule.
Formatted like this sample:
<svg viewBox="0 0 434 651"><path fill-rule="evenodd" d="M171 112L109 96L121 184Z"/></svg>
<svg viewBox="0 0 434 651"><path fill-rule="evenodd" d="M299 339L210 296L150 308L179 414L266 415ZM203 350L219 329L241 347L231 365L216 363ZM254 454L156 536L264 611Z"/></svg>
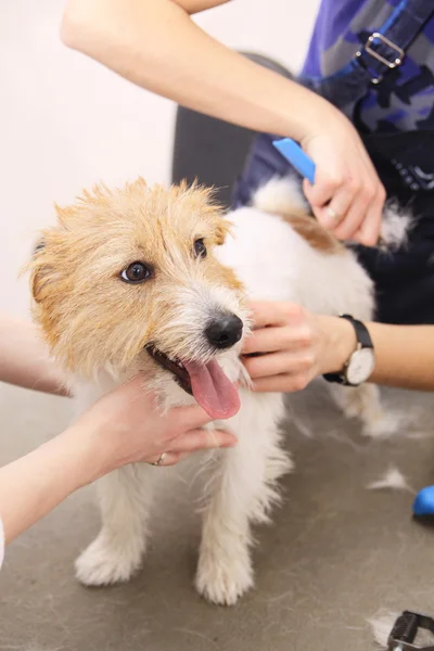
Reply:
<svg viewBox="0 0 434 651"><path fill-rule="evenodd" d="M207 601L219 605L233 605L253 584L248 554L243 559L233 556L225 560L208 552L201 554L195 586Z"/></svg>

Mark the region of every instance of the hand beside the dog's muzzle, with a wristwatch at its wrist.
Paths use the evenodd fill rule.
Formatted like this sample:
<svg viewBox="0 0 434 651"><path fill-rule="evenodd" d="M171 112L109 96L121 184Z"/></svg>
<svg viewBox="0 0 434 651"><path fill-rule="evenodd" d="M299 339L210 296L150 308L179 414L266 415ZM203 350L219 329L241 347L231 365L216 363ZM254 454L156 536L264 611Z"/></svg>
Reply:
<svg viewBox="0 0 434 651"><path fill-rule="evenodd" d="M317 375L340 371L356 349L346 319L317 316L292 303L253 303L255 330L243 361L255 392L291 393ZM257 357L245 357L260 354Z"/></svg>

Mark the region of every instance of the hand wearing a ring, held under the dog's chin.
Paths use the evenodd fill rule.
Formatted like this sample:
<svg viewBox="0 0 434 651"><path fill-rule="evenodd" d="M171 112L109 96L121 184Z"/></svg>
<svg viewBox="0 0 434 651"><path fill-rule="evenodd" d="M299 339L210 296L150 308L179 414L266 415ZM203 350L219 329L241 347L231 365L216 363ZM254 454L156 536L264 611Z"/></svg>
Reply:
<svg viewBox="0 0 434 651"><path fill-rule="evenodd" d="M103 396L72 425L90 452L91 476L84 483L127 463L152 463L163 452L163 465L173 465L196 450L237 444L230 432L203 430L210 421L196 405L175 407L162 416L138 375Z"/></svg>

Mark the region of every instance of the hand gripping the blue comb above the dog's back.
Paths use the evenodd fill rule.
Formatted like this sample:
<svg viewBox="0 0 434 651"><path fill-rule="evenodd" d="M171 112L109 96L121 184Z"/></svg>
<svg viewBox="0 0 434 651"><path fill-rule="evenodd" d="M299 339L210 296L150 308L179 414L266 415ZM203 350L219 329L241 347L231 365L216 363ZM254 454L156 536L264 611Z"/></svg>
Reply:
<svg viewBox="0 0 434 651"><path fill-rule="evenodd" d="M315 186L304 181L318 221L340 240L378 243L385 190L359 135L331 104L320 100L318 120L301 144L316 164Z"/></svg>

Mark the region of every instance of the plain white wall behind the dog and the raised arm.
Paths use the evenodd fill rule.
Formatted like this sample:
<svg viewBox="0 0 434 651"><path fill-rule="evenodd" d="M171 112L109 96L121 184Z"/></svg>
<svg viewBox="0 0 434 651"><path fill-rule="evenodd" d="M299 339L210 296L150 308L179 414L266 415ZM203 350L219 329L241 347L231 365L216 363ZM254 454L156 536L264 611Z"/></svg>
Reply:
<svg viewBox="0 0 434 651"><path fill-rule="evenodd" d="M197 23L297 69L318 3L233 0ZM0 312L28 311L17 272L54 201L98 180L169 178L175 106L64 48L62 10L60 0L0 3Z"/></svg>

